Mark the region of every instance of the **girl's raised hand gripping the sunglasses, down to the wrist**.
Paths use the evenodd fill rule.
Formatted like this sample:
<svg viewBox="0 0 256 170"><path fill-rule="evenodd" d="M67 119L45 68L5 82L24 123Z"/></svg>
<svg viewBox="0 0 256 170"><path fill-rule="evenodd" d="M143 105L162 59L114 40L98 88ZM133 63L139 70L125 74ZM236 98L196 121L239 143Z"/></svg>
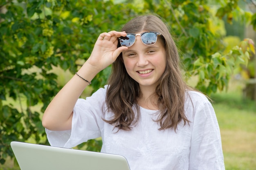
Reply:
<svg viewBox="0 0 256 170"><path fill-rule="evenodd" d="M101 33L86 63L90 64L96 72L100 72L112 64L122 51L128 49L128 47L123 46L117 48L118 37L121 36L125 37L126 33L117 31Z"/></svg>

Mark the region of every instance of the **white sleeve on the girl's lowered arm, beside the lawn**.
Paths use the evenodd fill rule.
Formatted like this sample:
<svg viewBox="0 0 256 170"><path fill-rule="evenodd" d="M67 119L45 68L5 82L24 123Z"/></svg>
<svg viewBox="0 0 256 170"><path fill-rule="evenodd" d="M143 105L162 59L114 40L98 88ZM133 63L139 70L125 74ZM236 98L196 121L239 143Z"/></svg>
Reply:
<svg viewBox="0 0 256 170"><path fill-rule="evenodd" d="M220 129L215 111L205 96L199 96L201 99L193 102L189 170L225 170Z"/></svg>

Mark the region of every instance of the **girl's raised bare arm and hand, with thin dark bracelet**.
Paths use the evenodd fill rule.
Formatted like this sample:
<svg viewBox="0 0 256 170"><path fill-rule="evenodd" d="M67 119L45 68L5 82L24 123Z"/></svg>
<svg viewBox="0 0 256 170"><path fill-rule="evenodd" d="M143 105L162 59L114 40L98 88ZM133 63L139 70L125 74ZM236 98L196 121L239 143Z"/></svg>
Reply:
<svg viewBox="0 0 256 170"><path fill-rule="evenodd" d="M126 33L110 31L99 35L89 59L46 108L42 119L45 128L52 131L71 129L74 106L85 87L89 85L88 82L113 63L123 50L127 49L127 47L117 48L118 37L121 36L126 36Z"/></svg>

